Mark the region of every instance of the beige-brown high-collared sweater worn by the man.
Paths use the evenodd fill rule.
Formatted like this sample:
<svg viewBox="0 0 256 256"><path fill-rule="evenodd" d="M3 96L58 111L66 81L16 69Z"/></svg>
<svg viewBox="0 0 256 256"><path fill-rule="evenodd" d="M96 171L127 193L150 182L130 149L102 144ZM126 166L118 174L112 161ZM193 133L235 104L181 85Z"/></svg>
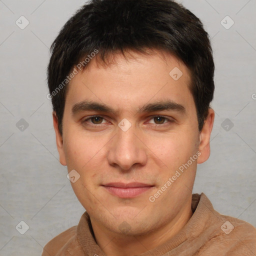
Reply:
<svg viewBox="0 0 256 256"><path fill-rule="evenodd" d="M174 237L136 256L256 256L255 227L219 214L204 193L192 195L191 208L193 215ZM63 255L106 256L93 238L86 211L77 226L54 237L42 252L42 256Z"/></svg>

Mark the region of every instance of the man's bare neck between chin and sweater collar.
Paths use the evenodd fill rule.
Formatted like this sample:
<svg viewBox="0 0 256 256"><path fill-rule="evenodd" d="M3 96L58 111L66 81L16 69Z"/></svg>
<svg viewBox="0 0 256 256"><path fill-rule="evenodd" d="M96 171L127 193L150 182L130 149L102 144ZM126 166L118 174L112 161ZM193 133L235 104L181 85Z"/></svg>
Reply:
<svg viewBox="0 0 256 256"><path fill-rule="evenodd" d="M109 231L91 219L98 246L108 256L133 256L158 247L174 237L192 216L191 198L168 223L143 235L125 235ZM111 237L111 238L110 238Z"/></svg>

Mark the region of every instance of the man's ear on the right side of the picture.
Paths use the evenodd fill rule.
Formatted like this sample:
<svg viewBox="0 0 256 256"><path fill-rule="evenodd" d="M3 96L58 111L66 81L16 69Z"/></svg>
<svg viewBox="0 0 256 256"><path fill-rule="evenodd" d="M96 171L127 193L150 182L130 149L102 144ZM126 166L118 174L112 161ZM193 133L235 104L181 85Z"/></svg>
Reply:
<svg viewBox="0 0 256 256"><path fill-rule="evenodd" d="M213 127L214 121L214 110L212 108L208 109L208 115L204 121L202 130L199 134L199 151L201 154L197 158L197 163L205 162L210 155L210 133Z"/></svg>

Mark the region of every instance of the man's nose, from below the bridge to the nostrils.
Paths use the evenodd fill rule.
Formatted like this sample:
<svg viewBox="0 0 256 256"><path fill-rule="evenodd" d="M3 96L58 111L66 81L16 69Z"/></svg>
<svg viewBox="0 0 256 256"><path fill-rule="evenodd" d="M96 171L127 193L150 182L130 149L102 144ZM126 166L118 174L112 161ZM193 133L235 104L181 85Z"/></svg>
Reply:
<svg viewBox="0 0 256 256"><path fill-rule="evenodd" d="M131 126L126 131L117 127L117 134L110 143L107 160L111 166L118 166L122 171L146 164L146 146L139 139L135 127Z"/></svg>

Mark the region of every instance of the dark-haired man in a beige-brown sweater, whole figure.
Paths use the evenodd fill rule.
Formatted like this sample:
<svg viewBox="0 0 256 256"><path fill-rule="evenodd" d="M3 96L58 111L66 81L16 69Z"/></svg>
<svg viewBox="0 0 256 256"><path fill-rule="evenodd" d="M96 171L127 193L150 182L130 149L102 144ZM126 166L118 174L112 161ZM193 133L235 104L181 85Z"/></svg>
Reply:
<svg viewBox="0 0 256 256"><path fill-rule="evenodd" d="M42 255L255 255L252 225L192 194L214 120L200 20L171 0L92 0L51 50L59 159L86 211Z"/></svg>

